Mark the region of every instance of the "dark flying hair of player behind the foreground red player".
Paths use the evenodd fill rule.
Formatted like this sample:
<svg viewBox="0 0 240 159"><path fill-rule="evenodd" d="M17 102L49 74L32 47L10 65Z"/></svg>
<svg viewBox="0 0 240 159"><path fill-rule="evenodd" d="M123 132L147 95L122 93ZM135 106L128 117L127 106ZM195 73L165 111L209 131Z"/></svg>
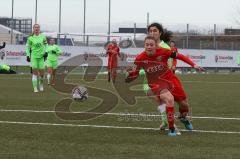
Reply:
<svg viewBox="0 0 240 159"><path fill-rule="evenodd" d="M172 38L172 32L167 29L163 29L162 24L160 23L152 23L148 26L148 32L151 27L156 27L159 32L161 32L160 40L163 40L165 43L168 43Z"/></svg>

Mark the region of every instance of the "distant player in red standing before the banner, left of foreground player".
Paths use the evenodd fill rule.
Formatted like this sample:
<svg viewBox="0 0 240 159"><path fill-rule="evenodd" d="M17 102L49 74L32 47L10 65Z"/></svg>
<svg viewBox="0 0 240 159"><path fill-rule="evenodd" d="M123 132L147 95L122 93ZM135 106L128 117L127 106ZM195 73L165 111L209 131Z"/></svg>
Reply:
<svg viewBox="0 0 240 159"><path fill-rule="evenodd" d="M117 76L118 57L120 57L120 49L117 42L113 40L107 45L108 55L108 82L115 82Z"/></svg>

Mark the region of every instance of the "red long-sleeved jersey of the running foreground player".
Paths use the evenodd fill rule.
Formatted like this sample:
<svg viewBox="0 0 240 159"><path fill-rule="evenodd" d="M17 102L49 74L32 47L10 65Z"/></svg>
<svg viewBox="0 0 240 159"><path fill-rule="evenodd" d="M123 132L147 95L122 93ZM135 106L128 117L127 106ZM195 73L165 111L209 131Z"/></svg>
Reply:
<svg viewBox="0 0 240 159"><path fill-rule="evenodd" d="M180 59L189 65L194 66L194 63L188 57L168 49L158 48L156 53L152 56L147 55L145 51L140 53L134 62L134 64L137 66L136 70L131 72L129 76L133 79L136 78L139 70L143 68L146 72L149 87L153 91L155 87L158 87L158 93L159 90L161 91L164 88L169 89L173 84L171 79L175 77L173 72L168 67L169 58Z"/></svg>

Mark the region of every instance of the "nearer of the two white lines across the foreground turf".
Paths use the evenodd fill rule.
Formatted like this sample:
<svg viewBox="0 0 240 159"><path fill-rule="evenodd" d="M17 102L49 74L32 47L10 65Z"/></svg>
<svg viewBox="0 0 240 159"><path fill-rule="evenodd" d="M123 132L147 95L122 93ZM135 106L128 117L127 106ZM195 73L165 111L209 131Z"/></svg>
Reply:
<svg viewBox="0 0 240 159"><path fill-rule="evenodd" d="M34 122L15 122L15 121L0 121L1 124L19 124L19 125L41 125L41 126L64 126L64 127L90 127L90 128L110 128L110 129L131 129L131 130L153 130L160 131L159 128L144 128L144 127L125 127L125 126L109 126L109 125L81 125L81 124L58 124L58 123L34 123ZM188 130L182 130L188 132ZM208 131L208 130L192 130L200 133L215 133L215 134L240 134L238 131Z"/></svg>

